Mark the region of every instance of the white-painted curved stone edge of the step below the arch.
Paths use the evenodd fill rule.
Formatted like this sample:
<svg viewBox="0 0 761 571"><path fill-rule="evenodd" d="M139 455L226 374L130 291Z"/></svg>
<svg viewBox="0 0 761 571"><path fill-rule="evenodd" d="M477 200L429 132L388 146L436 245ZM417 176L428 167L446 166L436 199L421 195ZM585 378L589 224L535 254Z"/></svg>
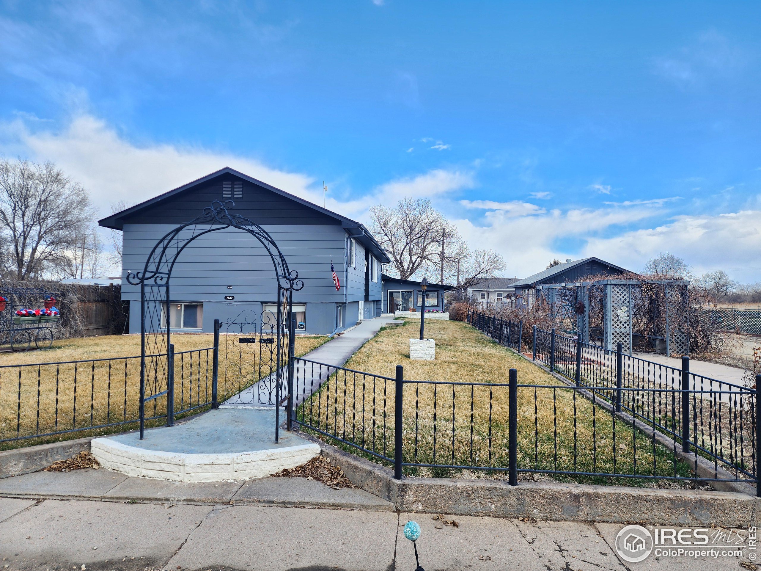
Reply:
<svg viewBox="0 0 761 571"><path fill-rule="evenodd" d="M300 466L319 455L320 446L310 442L235 454L180 454L97 438L91 442L91 453L101 466L128 476L174 482L221 482L262 478Z"/></svg>

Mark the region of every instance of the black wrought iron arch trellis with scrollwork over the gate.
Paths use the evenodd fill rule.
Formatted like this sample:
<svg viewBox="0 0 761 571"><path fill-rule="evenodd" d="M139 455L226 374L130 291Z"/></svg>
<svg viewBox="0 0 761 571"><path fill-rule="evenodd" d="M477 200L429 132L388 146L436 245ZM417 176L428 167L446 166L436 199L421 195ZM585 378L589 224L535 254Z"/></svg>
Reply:
<svg viewBox="0 0 761 571"><path fill-rule="evenodd" d="M304 282L298 279L298 272L288 268L285 256L275 243L272 236L260 225L255 224L244 216L231 214L228 207L234 206L232 200L221 203L218 200L203 209L196 219L177 226L154 245L142 272L127 274L127 282L140 285L141 311L141 359L140 359L140 439L144 437L145 403L167 397L167 420L170 419L170 407L174 407L173 380L174 364L171 359L170 331L170 277L177 258L183 250L196 238L227 228L242 230L256 238L269 254L275 270L277 285L277 355L275 371L277 385L280 386L282 365L288 357L293 343L292 335L288 335L291 326L293 292L304 287ZM283 346L283 342L287 346ZM151 394L146 396L146 388L150 384ZM282 403L275 404L275 423ZM161 416L161 415L159 415ZM157 411L149 418L156 418Z"/></svg>

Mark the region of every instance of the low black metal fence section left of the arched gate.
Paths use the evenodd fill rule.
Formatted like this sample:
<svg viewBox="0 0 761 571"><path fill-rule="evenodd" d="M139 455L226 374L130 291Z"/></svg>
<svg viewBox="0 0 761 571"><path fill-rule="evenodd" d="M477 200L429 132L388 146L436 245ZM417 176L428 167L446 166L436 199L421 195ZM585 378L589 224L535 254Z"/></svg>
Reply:
<svg viewBox="0 0 761 571"><path fill-rule="evenodd" d="M171 347L171 394L151 393L148 368L146 397L154 398L146 402L145 419L171 424L175 415L211 405L216 350ZM0 445L136 423L139 391L140 356L0 365Z"/></svg>

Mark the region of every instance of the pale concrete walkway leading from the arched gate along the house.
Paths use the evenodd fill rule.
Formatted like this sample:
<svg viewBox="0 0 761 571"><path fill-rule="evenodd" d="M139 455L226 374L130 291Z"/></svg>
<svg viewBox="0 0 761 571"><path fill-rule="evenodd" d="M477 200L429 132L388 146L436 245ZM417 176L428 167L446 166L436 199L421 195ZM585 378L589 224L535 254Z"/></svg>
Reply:
<svg viewBox="0 0 761 571"><path fill-rule="evenodd" d="M357 349L367 343L368 340L375 337L381 327L390 323L400 324L401 322L393 321L393 315L374 317L374 319L362 321L361 324L358 324L356 327L352 327L343 333L339 333L333 340L330 340L328 343L320 345L317 349L301 356L301 359L339 367L348 361L349 357L351 357ZM304 363L301 363L298 370L295 371L295 404L301 404L301 402L309 397L310 394L317 391L329 376L330 374L327 368L323 367L322 369L315 369L310 366L304 366ZM274 386L273 383L274 376L270 375L268 378L262 379L246 390L225 400L224 403L221 404L221 407L272 407L272 405L260 404L259 395L269 394L270 388Z"/></svg>

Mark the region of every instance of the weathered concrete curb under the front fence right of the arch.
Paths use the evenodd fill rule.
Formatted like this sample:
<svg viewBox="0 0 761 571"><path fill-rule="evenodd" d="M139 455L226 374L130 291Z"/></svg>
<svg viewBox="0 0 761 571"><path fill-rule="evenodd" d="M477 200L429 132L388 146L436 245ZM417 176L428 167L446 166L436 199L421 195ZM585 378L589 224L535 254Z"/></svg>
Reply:
<svg viewBox="0 0 761 571"><path fill-rule="evenodd" d="M321 442L310 435L304 438ZM744 493L650 490L560 482L456 480L405 477L389 468L321 442L322 454L340 466L355 486L392 502L400 512L536 518L553 521L644 525L756 524L758 500Z"/></svg>

